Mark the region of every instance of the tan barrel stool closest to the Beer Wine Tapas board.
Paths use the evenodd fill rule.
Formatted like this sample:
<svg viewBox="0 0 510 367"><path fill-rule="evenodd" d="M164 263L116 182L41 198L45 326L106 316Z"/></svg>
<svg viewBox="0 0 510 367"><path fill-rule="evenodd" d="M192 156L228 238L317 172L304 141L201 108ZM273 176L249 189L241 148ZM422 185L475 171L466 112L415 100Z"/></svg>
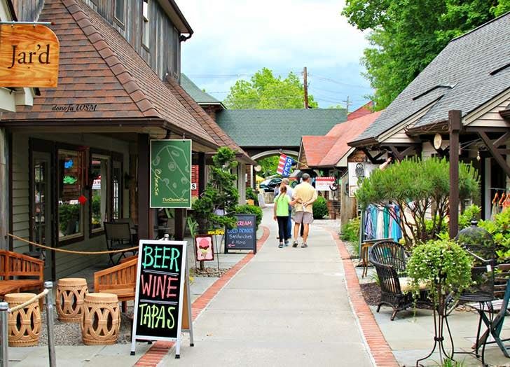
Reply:
<svg viewBox="0 0 510 367"><path fill-rule="evenodd" d="M88 293L85 295L81 321L83 344L115 344L119 328L120 310L116 294Z"/></svg>

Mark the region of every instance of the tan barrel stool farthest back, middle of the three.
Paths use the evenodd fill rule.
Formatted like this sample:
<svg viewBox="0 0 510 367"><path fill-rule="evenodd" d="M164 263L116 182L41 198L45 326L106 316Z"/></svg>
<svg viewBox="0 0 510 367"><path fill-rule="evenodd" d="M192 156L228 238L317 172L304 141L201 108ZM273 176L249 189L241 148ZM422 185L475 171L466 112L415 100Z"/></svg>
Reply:
<svg viewBox="0 0 510 367"><path fill-rule="evenodd" d="M83 298L88 293L85 278L62 278L57 286L57 313L62 322L80 322Z"/></svg>

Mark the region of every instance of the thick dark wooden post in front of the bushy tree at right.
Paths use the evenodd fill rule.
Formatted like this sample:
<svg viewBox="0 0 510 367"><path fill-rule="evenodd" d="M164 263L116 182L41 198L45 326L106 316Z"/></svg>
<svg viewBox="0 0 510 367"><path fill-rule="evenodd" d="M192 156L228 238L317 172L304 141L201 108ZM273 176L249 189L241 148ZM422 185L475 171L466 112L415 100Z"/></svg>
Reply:
<svg viewBox="0 0 510 367"><path fill-rule="evenodd" d="M462 126L462 113L459 110L448 111L450 126L450 238L459 232L459 134Z"/></svg>

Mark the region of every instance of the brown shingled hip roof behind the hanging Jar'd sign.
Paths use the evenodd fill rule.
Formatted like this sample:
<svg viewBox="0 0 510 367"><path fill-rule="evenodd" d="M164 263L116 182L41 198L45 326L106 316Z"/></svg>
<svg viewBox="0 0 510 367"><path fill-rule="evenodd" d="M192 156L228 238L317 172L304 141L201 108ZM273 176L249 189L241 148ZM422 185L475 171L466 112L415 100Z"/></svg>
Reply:
<svg viewBox="0 0 510 367"><path fill-rule="evenodd" d="M32 108L5 120L159 120L161 127L217 144L135 49L81 0L46 0L39 21L53 21L60 40L57 88L41 90ZM66 106L97 105L92 111Z"/></svg>

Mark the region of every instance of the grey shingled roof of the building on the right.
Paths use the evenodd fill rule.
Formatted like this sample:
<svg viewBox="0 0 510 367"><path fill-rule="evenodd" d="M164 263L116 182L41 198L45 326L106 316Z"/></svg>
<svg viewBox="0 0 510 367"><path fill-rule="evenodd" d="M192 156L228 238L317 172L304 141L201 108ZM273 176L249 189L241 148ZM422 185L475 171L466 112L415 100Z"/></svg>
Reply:
<svg viewBox="0 0 510 367"><path fill-rule="evenodd" d="M446 121L452 109L466 116L509 90L509 39L510 13L506 13L450 41L352 145L377 140L425 107L432 106L415 127Z"/></svg>

